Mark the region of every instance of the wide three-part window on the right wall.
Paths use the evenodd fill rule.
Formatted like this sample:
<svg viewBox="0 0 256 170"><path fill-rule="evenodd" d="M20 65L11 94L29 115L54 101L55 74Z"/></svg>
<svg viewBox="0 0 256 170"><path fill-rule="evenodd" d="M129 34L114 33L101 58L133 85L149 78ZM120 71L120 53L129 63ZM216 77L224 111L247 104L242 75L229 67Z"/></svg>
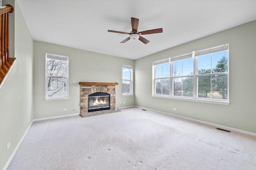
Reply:
<svg viewBox="0 0 256 170"><path fill-rule="evenodd" d="M153 96L228 103L228 43L153 62L153 71Z"/></svg>

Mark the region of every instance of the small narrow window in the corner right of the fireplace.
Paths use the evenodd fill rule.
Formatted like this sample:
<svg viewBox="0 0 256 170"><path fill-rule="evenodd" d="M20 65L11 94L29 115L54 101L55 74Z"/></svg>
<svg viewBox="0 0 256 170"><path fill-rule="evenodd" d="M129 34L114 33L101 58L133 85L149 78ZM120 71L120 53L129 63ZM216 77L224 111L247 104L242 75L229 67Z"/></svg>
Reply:
<svg viewBox="0 0 256 170"><path fill-rule="evenodd" d="M122 94L132 95L132 66L123 65L122 77Z"/></svg>

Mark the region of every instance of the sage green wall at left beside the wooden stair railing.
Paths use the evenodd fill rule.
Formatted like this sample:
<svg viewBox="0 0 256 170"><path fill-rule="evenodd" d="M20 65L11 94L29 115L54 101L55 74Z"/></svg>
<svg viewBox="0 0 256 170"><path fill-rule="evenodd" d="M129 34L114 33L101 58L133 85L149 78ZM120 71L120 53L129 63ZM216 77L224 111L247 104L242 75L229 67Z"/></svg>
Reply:
<svg viewBox="0 0 256 170"><path fill-rule="evenodd" d="M33 40L16 0L3 1L3 6L6 4L14 7L10 14L10 20L15 18L15 27L10 26L10 43L16 48L11 49L14 55L10 56L16 57L16 63L0 89L1 170L33 121Z"/></svg>

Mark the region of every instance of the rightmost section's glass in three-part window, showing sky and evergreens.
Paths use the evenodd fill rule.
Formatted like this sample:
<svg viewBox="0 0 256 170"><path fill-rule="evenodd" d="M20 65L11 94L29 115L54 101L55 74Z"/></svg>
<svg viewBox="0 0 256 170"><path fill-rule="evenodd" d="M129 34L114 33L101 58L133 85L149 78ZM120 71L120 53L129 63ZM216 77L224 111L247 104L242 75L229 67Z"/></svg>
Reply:
<svg viewBox="0 0 256 170"><path fill-rule="evenodd" d="M203 65L204 68L202 68ZM227 51L221 51L218 53L209 54L207 56L203 55L198 57L198 97L227 99L227 73Z"/></svg>

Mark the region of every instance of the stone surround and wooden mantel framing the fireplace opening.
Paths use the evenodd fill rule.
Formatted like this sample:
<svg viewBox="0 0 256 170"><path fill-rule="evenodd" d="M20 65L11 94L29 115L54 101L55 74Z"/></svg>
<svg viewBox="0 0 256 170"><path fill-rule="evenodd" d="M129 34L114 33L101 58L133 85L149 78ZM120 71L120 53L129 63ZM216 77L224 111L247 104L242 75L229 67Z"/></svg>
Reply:
<svg viewBox="0 0 256 170"><path fill-rule="evenodd" d="M80 114L88 113L88 95L96 92L110 95L110 109L116 107L116 85L118 83L80 82Z"/></svg>

